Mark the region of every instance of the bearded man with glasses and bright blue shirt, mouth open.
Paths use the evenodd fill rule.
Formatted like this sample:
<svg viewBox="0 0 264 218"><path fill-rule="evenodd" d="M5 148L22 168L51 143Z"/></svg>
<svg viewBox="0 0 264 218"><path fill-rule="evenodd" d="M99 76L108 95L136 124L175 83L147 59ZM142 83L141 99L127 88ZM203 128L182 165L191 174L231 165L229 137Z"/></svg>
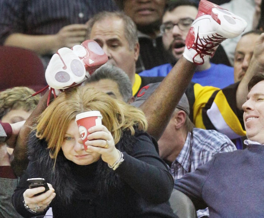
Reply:
<svg viewBox="0 0 264 218"><path fill-rule="evenodd" d="M142 71L139 75L166 76L170 72L184 52L185 39L197 13L197 4L191 0L171 1L168 4L160 30L169 63ZM224 88L234 83L234 69L224 64L213 64L207 60L204 64L197 66L192 81L203 86Z"/></svg>

